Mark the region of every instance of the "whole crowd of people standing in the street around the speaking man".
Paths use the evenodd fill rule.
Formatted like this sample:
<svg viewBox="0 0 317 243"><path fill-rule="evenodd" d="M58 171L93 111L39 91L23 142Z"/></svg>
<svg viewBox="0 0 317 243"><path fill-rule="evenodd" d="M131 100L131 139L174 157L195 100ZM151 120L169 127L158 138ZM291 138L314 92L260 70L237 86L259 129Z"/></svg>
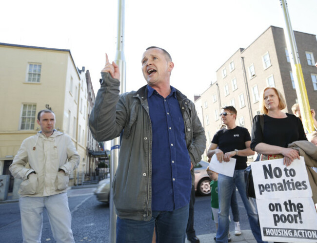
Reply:
<svg viewBox="0 0 317 243"><path fill-rule="evenodd" d="M191 243L199 243L194 230L193 168L206 149L205 131L194 103L170 85L174 68L170 54L151 46L143 53L141 65L147 85L119 94L119 66L106 55L101 86L89 117L97 141L121 137L112 184L118 215L116 241L184 243L187 233ZM215 155L220 163L236 159L233 177L207 168L212 180L211 212L217 243L231 240L230 207L235 235L241 234L237 190L252 233L258 243L263 242L255 200L245 193L248 156L257 152L257 160L283 158L289 166L299 159L298 150L289 144L308 138L317 145L316 131L306 137L298 106L292 108L295 115L283 112L285 100L274 87L265 88L260 98L262 115L254 117L251 135L236 125L235 107L224 106L220 113L224 127L216 132L207 151L209 158ZM312 115L315 122L314 110ZM52 111L40 111L38 123L41 131L23 141L10 166L12 174L24 180L20 187L23 242L40 242L41 214L46 208L55 240L71 243L74 237L65 191L68 175L79 164L79 155L71 139L54 129Z"/></svg>

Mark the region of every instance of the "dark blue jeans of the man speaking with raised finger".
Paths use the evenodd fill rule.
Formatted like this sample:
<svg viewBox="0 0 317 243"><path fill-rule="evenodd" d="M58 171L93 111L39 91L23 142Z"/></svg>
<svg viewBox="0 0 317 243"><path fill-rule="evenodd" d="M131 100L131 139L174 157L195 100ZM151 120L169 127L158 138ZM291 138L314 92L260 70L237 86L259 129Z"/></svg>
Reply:
<svg viewBox="0 0 317 243"><path fill-rule="evenodd" d="M173 211L152 211L150 221L117 218L117 243L184 243L189 204Z"/></svg>

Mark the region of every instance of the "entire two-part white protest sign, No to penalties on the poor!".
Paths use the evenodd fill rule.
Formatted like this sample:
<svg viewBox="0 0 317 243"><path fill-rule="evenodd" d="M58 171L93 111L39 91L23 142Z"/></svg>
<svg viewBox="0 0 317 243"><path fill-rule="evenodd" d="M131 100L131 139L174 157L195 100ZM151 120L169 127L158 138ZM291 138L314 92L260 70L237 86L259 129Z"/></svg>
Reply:
<svg viewBox="0 0 317 243"><path fill-rule="evenodd" d="M317 242L317 213L304 158L251 163L263 241Z"/></svg>

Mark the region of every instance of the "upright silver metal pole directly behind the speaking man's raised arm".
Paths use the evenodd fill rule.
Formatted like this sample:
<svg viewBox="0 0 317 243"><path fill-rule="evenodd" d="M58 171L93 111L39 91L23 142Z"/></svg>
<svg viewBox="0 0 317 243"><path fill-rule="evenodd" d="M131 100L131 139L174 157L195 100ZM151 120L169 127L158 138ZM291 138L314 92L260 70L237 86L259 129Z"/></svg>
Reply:
<svg viewBox="0 0 317 243"><path fill-rule="evenodd" d="M118 32L117 32L117 51L115 62L119 66L120 70L120 93L125 93L125 57L124 57L124 10L125 0L118 0ZM112 185L113 179L116 174L119 161L119 138L111 141L111 158L110 158L110 182ZM113 190L110 186L110 230L109 230L109 242L116 242L116 222L117 214L115 204L113 203Z"/></svg>

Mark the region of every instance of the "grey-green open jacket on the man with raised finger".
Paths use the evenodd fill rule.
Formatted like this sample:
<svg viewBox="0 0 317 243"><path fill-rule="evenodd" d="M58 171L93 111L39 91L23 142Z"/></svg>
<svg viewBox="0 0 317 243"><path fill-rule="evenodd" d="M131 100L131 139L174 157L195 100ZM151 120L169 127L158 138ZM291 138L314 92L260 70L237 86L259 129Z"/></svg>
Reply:
<svg viewBox="0 0 317 243"><path fill-rule="evenodd" d="M123 131L112 185L117 214L120 218L149 221L152 217L152 124L147 88L145 85L138 91L119 95L119 80L109 73L101 76L89 125L99 142L114 139ZM176 96L184 119L188 153L195 166L206 146L205 132L194 103L178 90Z"/></svg>

